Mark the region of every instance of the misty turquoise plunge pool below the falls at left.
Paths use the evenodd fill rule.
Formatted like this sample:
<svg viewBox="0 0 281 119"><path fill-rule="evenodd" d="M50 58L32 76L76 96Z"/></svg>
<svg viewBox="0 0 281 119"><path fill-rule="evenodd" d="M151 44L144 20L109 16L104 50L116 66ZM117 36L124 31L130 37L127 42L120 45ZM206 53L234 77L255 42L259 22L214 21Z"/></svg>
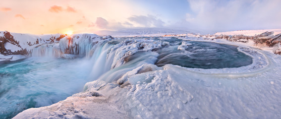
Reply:
<svg viewBox="0 0 281 119"><path fill-rule="evenodd" d="M82 60L28 58L0 63L0 119L81 92L88 82Z"/></svg>

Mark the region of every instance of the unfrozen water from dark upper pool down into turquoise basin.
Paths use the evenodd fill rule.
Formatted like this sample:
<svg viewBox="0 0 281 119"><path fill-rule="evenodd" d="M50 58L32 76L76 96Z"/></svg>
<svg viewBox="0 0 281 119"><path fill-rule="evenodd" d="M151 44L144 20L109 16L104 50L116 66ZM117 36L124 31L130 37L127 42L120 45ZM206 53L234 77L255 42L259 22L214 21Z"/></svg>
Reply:
<svg viewBox="0 0 281 119"><path fill-rule="evenodd" d="M159 37L152 39L160 40ZM240 67L252 63L252 58L238 52L236 46L185 41L191 45L185 50L177 50L182 40L171 38L160 40L169 42L169 45L151 51L138 49L134 55L126 57L124 63L112 68L116 52L113 46L118 46L123 40L100 41L93 55L89 56L91 58L87 59L43 56L0 62L0 119L10 119L28 108L48 106L64 100L83 91L86 82L97 78L116 81L127 71L144 63L194 68ZM132 42L126 45L130 44ZM49 50L53 54L52 49Z"/></svg>

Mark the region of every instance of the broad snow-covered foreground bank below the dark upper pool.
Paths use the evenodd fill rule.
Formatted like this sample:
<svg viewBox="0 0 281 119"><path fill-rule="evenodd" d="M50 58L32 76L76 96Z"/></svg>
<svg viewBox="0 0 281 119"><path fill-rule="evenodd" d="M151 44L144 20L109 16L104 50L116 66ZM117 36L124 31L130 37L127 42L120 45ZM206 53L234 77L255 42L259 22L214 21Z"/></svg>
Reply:
<svg viewBox="0 0 281 119"><path fill-rule="evenodd" d="M271 53L266 55L271 57L270 60L274 63L271 70L263 70L259 74L238 78L231 75L225 75L225 77L194 73L175 65L165 65L161 69L135 74L141 67L152 65L145 64L127 73L127 79L131 85L124 88L115 83L95 80L85 85L85 92L74 94L52 106L28 109L15 119L29 118L29 116L74 117L75 112L84 118L92 119L93 115L101 115L99 118L102 119L106 119L103 116L115 117L116 115L117 118L120 116L110 111L110 113L96 112L96 110L107 111L105 107L113 108L116 112L123 112L122 115L125 117L122 118L134 117L135 119L225 117L276 119L281 116L279 112L281 107L278 106L281 81L277 72L281 70L281 65L278 64L281 57ZM99 102L99 105L96 102ZM74 106L64 108L69 105ZM87 110L89 108L91 108L90 111ZM86 113L81 113L81 109L86 110ZM48 115L43 115L45 113ZM62 114L65 116L61 116Z"/></svg>

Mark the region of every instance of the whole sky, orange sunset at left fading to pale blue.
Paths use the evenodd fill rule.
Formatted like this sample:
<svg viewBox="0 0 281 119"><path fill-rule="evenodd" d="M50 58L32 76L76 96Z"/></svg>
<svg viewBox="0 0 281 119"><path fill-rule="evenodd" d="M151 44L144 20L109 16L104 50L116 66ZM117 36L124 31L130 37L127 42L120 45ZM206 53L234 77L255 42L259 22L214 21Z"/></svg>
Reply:
<svg viewBox="0 0 281 119"><path fill-rule="evenodd" d="M281 0L0 0L0 31L93 33L157 27L204 33L281 28Z"/></svg>

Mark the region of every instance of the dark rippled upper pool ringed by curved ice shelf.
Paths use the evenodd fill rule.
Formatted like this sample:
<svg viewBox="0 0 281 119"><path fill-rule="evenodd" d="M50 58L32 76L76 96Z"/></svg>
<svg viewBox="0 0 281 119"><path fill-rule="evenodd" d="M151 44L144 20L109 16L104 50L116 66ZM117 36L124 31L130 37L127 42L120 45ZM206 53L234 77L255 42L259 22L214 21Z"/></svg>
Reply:
<svg viewBox="0 0 281 119"><path fill-rule="evenodd" d="M232 68L249 65L252 58L238 52L236 46L217 44L210 42L186 41L192 45L185 50L177 50L181 42L175 46L169 46L160 50L157 62L158 66L175 64L191 68Z"/></svg>

